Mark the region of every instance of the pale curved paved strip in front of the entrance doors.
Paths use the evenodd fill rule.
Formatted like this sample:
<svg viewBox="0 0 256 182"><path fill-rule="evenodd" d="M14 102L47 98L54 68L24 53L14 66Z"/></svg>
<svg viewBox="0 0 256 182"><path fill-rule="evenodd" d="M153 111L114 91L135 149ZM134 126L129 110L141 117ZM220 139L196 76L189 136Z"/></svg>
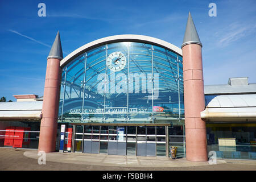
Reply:
<svg viewBox="0 0 256 182"><path fill-rule="evenodd" d="M38 151L25 151L27 158L38 159ZM123 156L106 154L84 154L71 152L46 153L46 161L57 163L85 164L93 166L118 166L118 167L191 167L208 166L209 162L189 162L185 158L171 159L164 157ZM226 163L225 160L217 160L217 164Z"/></svg>

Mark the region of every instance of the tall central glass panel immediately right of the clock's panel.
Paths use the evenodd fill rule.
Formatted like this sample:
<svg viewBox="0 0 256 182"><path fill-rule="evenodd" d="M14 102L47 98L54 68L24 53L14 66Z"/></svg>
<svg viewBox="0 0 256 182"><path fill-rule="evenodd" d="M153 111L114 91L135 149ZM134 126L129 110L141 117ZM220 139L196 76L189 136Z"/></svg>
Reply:
<svg viewBox="0 0 256 182"><path fill-rule="evenodd" d="M149 122L152 116L151 45L130 43L129 122ZM143 119L142 119L143 118Z"/></svg>

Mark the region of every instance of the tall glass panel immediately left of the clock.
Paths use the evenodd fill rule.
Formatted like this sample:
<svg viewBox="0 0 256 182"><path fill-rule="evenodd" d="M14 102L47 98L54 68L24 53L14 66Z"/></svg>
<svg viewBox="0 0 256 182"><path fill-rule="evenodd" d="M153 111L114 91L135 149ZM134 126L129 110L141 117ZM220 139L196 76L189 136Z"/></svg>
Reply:
<svg viewBox="0 0 256 182"><path fill-rule="evenodd" d="M82 121L102 121L104 113L106 46L87 52Z"/></svg>

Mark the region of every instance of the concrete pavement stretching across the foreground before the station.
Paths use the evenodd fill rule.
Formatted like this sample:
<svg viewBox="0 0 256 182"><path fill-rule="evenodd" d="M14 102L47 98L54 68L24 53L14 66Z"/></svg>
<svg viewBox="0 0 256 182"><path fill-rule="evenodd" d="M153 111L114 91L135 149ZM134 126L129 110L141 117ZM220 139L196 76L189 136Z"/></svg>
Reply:
<svg viewBox="0 0 256 182"><path fill-rule="evenodd" d="M256 160L188 162L186 159L53 152L46 165L36 150L0 148L0 171L256 171Z"/></svg>

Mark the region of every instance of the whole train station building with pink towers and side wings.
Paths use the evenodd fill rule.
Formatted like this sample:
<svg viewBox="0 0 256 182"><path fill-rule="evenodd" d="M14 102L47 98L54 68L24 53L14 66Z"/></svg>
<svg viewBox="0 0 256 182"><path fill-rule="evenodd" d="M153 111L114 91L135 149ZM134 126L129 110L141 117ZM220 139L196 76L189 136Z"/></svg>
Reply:
<svg viewBox="0 0 256 182"><path fill-rule="evenodd" d="M0 103L0 147L168 158L176 146L189 161L209 151L256 159L256 84L204 85L201 48L190 13L181 48L115 35L63 57L58 32L44 96Z"/></svg>

